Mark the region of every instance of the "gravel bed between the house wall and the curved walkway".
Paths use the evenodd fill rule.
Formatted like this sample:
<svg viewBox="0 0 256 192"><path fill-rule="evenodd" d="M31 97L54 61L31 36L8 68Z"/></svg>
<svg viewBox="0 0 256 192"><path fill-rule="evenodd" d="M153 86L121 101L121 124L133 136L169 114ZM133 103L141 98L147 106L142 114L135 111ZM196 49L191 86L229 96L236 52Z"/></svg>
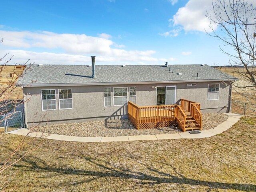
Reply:
<svg viewBox="0 0 256 192"><path fill-rule="evenodd" d="M203 114L203 130L207 130L224 122L226 114ZM113 137L133 135L172 134L181 132L177 127L136 130L129 120L88 121L80 123L64 123L36 128L38 132L82 137Z"/></svg>

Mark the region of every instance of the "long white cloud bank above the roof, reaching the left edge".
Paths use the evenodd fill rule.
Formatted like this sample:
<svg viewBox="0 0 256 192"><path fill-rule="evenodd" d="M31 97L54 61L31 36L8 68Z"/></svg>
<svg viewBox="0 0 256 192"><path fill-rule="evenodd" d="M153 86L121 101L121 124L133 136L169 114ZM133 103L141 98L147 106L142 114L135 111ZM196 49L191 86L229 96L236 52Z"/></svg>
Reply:
<svg viewBox="0 0 256 192"><path fill-rule="evenodd" d="M0 30L1 36L4 37L4 42L0 44L0 55L13 54L12 62L18 64L28 59L37 64L90 64L90 55L96 55L97 61L104 64L162 62L162 59L153 56L156 51L125 50L124 45L106 39L110 38L108 34L99 34L105 37L100 38L85 34Z"/></svg>

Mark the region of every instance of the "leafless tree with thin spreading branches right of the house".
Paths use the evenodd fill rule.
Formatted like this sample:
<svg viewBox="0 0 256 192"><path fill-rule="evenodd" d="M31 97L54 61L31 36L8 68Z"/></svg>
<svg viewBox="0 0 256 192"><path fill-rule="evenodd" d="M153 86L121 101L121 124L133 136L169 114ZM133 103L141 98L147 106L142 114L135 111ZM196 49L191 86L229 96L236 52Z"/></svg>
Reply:
<svg viewBox="0 0 256 192"><path fill-rule="evenodd" d="M216 0L206 12L211 29L208 35L222 41L220 50L229 56L229 64L239 76L233 91L237 98L250 104L250 113L255 114L256 3L254 0Z"/></svg>

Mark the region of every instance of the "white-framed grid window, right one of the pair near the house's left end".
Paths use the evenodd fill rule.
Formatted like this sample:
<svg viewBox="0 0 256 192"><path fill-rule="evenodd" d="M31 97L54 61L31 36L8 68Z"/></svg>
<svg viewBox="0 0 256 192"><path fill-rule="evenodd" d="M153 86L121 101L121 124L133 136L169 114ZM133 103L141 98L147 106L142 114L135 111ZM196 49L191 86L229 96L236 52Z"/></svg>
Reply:
<svg viewBox="0 0 256 192"><path fill-rule="evenodd" d="M60 109L72 109L72 89L59 89L59 106Z"/></svg>

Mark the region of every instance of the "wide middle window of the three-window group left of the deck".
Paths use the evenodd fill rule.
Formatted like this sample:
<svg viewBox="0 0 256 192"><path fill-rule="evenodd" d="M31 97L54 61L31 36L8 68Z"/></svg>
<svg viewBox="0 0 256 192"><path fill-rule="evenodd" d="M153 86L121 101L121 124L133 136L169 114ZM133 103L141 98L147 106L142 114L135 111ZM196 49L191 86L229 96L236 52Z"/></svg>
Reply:
<svg viewBox="0 0 256 192"><path fill-rule="evenodd" d="M127 105L127 87L113 88L114 106Z"/></svg>

